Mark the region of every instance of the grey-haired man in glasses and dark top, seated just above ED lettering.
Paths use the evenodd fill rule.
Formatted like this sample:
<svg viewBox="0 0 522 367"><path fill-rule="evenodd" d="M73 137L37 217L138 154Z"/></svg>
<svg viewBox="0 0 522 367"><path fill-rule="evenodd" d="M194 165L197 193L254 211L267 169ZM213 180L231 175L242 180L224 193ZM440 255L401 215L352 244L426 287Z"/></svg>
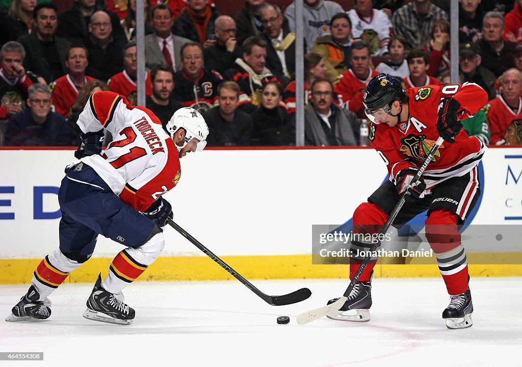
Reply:
<svg viewBox="0 0 522 367"><path fill-rule="evenodd" d="M65 118L51 112L51 89L42 83L29 87L28 109L11 116L5 144L11 146L67 146L69 127Z"/></svg>

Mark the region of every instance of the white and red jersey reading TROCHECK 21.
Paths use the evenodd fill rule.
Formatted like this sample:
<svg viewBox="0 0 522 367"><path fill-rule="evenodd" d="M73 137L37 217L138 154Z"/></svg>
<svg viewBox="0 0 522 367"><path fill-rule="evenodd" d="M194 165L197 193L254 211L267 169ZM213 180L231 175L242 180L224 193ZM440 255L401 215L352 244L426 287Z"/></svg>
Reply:
<svg viewBox="0 0 522 367"><path fill-rule="evenodd" d="M144 212L181 177L174 142L147 108L131 106L111 91L94 93L77 122L84 133L108 130L113 141L102 155L80 160L91 166L120 199Z"/></svg>

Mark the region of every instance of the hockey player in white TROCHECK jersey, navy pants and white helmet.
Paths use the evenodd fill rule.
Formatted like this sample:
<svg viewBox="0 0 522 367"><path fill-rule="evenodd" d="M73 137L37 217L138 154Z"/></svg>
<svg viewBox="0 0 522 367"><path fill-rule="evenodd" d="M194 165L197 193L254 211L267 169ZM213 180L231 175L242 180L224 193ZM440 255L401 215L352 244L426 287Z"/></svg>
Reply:
<svg viewBox="0 0 522 367"><path fill-rule="evenodd" d="M112 261L109 276L103 281L98 276L84 317L131 324L135 311L121 292L161 254L162 227L173 215L162 194L180 180L180 158L203 150L208 135L205 120L192 108L174 112L166 133L150 110L111 91L94 93L77 123L79 160L66 167L58 191L60 246L40 262L7 321L48 318L49 295L91 257L101 234L125 249ZM101 154L105 129L114 140Z"/></svg>

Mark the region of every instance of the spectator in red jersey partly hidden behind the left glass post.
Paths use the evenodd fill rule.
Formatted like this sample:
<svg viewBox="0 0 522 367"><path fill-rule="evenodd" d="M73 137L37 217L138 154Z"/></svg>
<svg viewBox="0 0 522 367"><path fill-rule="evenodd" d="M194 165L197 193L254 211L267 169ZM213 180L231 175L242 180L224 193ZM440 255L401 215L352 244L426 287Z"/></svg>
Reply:
<svg viewBox="0 0 522 367"><path fill-rule="evenodd" d="M128 42L123 50L123 66L125 69L116 75L111 76L109 89L114 93L127 98L129 103L137 106L138 94L136 79L138 77L138 58L136 55L136 41ZM150 73L145 74L145 95L152 94L152 83L150 81Z"/></svg>

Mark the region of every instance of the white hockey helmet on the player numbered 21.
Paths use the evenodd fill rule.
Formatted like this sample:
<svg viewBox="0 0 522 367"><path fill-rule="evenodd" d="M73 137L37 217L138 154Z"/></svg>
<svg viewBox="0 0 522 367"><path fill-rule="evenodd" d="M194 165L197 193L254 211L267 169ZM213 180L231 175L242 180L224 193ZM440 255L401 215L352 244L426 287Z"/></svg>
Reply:
<svg viewBox="0 0 522 367"><path fill-rule="evenodd" d="M185 129L186 133L185 141L181 147L177 147L178 150L182 150L193 137L199 140L196 149L199 152L204 150L207 145L208 126L201 113L190 107L183 107L174 112L167 123L166 129L170 136L173 137L180 128Z"/></svg>

